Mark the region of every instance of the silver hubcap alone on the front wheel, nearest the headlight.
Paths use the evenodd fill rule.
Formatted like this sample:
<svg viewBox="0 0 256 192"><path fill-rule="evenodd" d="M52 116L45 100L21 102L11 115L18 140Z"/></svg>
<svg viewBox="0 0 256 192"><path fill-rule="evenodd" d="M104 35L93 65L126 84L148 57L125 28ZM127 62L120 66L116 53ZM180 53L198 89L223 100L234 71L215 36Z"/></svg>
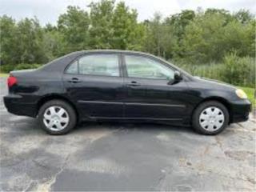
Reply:
<svg viewBox="0 0 256 192"><path fill-rule="evenodd" d="M221 109L216 106L210 106L199 116L200 126L207 131L216 131L224 124L225 117Z"/></svg>

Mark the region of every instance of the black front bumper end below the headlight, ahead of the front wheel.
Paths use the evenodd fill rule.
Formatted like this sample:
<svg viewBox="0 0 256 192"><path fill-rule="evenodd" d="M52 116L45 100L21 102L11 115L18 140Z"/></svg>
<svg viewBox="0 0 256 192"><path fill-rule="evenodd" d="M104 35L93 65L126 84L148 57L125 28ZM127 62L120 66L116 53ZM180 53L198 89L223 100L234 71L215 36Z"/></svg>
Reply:
<svg viewBox="0 0 256 192"><path fill-rule="evenodd" d="M230 117L230 123L233 122L246 122L249 119L251 110L251 103L247 99L241 99L238 101L230 102L230 110L232 115Z"/></svg>

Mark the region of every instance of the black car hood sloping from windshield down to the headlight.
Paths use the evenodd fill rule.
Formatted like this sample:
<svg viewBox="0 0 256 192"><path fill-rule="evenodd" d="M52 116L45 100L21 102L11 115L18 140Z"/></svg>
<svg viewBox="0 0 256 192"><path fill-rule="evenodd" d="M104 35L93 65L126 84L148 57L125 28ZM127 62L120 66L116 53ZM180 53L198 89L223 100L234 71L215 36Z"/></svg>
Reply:
<svg viewBox="0 0 256 192"><path fill-rule="evenodd" d="M232 86L226 82L221 82L218 80L210 79L210 78L201 78L201 77L194 77L195 81L200 84L202 87L211 87L213 89L218 90L236 90L235 86Z"/></svg>

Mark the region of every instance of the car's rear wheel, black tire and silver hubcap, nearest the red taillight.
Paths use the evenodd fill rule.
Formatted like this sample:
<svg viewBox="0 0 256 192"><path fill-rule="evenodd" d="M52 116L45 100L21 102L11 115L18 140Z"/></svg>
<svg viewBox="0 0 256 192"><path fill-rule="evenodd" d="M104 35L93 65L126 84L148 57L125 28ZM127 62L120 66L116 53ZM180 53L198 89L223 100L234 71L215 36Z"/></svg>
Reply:
<svg viewBox="0 0 256 192"><path fill-rule="evenodd" d="M42 105L38 120L48 134L60 135L68 133L76 126L77 115L69 103L54 99Z"/></svg>

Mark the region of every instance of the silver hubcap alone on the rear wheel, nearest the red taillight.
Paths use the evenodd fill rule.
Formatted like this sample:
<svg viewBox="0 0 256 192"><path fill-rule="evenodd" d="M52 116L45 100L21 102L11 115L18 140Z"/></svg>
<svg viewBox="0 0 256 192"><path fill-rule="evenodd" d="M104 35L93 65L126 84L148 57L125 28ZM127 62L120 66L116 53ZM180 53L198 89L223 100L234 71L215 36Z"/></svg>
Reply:
<svg viewBox="0 0 256 192"><path fill-rule="evenodd" d="M50 130L63 130L69 122L69 114L61 106L50 106L43 114L43 123Z"/></svg>

